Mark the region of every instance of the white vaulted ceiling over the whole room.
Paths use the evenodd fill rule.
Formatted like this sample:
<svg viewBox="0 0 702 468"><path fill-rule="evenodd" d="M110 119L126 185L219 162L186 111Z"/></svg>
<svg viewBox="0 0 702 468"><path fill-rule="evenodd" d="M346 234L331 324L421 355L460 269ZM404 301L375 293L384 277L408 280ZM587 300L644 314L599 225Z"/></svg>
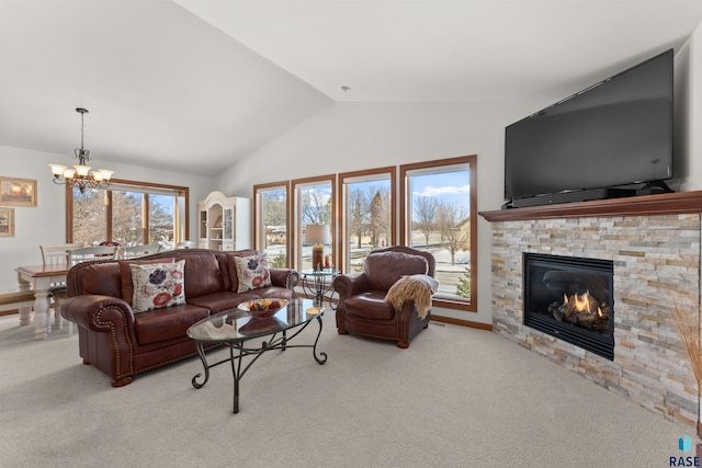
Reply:
<svg viewBox="0 0 702 468"><path fill-rule="evenodd" d="M212 175L333 101L567 96L701 22L702 0L0 0L0 145L68 163L82 106L93 165Z"/></svg>

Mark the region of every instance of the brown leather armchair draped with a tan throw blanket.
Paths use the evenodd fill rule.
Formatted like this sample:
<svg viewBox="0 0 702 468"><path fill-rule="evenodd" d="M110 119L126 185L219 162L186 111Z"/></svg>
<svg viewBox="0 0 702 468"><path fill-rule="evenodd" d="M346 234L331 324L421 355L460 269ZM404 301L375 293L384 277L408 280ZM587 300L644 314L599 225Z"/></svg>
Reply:
<svg viewBox="0 0 702 468"><path fill-rule="evenodd" d="M429 326L431 313L420 318L414 300L405 300L400 310L385 301L388 289L404 275L434 276L437 262L429 252L408 247L388 247L370 253L363 272L339 275L333 288L339 294L337 329L339 334L361 334L395 341L408 347L409 341Z"/></svg>

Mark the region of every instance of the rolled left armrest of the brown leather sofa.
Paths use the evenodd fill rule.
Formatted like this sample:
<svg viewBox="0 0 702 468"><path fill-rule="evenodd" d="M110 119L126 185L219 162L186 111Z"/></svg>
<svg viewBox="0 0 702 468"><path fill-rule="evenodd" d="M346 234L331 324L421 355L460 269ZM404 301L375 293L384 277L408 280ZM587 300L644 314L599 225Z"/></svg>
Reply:
<svg viewBox="0 0 702 468"><path fill-rule="evenodd" d="M69 297L61 304L61 316L95 332L126 329L126 333L132 335L134 330L132 307L125 300L112 296L86 294Z"/></svg>

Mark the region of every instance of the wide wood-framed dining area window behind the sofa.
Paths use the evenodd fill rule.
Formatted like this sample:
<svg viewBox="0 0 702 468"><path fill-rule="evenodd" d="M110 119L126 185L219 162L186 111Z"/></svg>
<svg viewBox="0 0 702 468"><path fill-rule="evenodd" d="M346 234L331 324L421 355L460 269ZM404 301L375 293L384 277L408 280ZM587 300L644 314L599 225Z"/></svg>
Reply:
<svg viewBox="0 0 702 468"><path fill-rule="evenodd" d="M84 193L67 186L66 194L68 242L172 249L186 240L188 187L113 180L107 189Z"/></svg>

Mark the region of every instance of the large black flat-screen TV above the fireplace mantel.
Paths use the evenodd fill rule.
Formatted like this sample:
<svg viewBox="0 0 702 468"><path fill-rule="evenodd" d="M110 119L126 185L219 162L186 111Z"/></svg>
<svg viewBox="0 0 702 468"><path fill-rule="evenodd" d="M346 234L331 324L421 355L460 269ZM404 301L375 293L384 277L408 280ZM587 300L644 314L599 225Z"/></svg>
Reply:
<svg viewBox="0 0 702 468"><path fill-rule="evenodd" d="M503 207L669 192L672 49L505 129Z"/></svg>

